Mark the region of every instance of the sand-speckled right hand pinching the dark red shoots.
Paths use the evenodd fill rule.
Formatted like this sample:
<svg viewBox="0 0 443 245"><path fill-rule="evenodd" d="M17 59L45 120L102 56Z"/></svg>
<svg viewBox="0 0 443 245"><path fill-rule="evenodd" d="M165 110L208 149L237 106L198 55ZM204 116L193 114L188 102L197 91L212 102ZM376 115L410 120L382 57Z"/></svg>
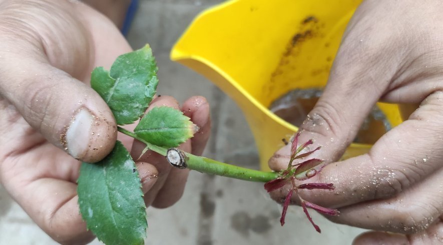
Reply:
<svg viewBox="0 0 443 245"><path fill-rule="evenodd" d="M350 226L402 233L370 233L356 244L434 244L443 239L443 3L366 0L344 33L323 95L301 126L300 142L323 146L327 165L311 179L334 191L303 191L303 199L337 208L328 217ZM368 154L335 162L378 101L418 104ZM289 146L270 159L286 168ZM312 150L312 149L311 149ZM288 189L271 196L281 201ZM297 200L293 200L294 203Z"/></svg>

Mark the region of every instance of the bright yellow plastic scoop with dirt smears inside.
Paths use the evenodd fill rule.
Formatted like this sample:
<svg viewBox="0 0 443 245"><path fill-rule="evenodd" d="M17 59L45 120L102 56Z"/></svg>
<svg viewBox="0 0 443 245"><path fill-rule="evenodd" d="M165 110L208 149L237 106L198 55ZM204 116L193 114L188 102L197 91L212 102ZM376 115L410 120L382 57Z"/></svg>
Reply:
<svg viewBox="0 0 443 245"><path fill-rule="evenodd" d="M321 88L347 22L361 0L230 0L198 15L171 59L206 76L243 110L263 170L297 127L270 104L293 89ZM392 126L397 105L378 103ZM367 152L352 144L343 158Z"/></svg>

